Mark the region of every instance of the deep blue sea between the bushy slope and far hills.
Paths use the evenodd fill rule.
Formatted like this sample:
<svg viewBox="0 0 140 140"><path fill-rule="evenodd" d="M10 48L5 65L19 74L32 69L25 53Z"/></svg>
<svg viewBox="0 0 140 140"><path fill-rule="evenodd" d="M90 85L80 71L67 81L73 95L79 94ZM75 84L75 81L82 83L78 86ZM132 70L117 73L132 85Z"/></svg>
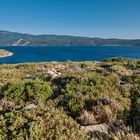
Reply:
<svg viewBox="0 0 140 140"><path fill-rule="evenodd" d="M9 46L0 47L14 55L0 64L50 61L101 61L110 57L140 59L140 46Z"/></svg>

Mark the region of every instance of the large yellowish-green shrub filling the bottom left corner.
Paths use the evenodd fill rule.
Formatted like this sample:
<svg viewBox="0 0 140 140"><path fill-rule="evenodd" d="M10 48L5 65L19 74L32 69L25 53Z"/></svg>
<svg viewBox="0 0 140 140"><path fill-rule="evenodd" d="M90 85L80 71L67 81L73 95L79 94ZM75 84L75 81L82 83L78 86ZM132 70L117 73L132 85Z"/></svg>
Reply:
<svg viewBox="0 0 140 140"><path fill-rule="evenodd" d="M0 115L0 128L2 140L86 140L73 119L43 104L28 112Z"/></svg>

